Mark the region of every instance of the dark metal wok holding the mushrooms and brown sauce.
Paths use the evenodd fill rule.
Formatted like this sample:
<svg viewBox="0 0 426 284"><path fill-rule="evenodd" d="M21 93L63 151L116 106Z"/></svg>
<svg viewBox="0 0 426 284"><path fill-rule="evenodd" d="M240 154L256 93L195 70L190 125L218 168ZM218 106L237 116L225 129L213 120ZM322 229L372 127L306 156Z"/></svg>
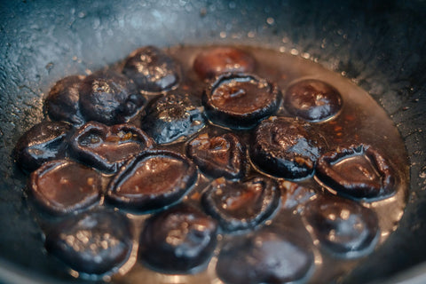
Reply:
<svg viewBox="0 0 426 284"><path fill-rule="evenodd" d="M3 1L0 3L0 282L75 280L43 252L12 148L43 93L146 44L245 43L315 59L368 91L405 139L411 193L397 232L343 281L426 281L426 4L422 1ZM412 270L413 267L414 271ZM401 274L402 273L402 274ZM422 276L424 273L424 276ZM417 278L419 279L419 278ZM419 282L420 283L420 282Z"/></svg>

